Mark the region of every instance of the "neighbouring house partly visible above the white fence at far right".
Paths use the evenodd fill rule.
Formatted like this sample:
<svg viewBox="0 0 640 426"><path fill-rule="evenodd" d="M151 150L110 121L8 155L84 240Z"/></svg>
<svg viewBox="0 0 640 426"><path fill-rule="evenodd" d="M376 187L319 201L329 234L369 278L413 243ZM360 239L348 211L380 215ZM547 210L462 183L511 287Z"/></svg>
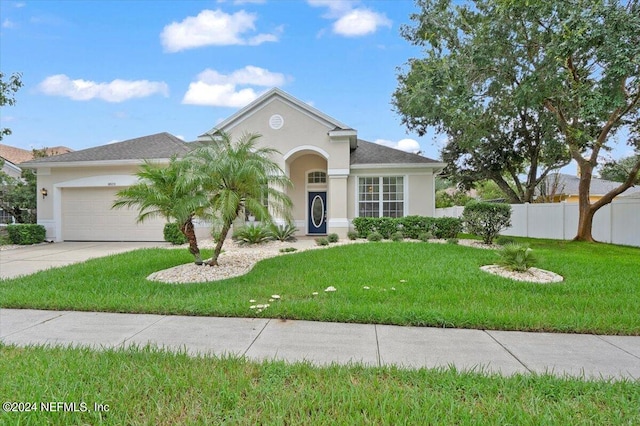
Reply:
<svg viewBox="0 0 640 426"><path fill-rule="evenodd" d="M547 176L544 183L538 188L538 195L543 196L545 202L559 203L560 201L566 201L568 203L577 203L579 199L579 185L580 178L577 176L552 173ZM589 190L589 201L591 203L598 201L603 195L619 186L620 182L592 178L591 188ZM634 194L640 194L640 187L632 186L616 198L629 197Z"/></svg>

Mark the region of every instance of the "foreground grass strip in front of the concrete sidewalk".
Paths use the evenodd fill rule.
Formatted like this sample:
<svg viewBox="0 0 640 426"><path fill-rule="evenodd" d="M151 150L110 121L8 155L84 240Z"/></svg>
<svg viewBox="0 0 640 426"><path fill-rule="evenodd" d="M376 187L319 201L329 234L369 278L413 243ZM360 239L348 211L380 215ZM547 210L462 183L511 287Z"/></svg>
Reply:
<svg viewBox="0 0 640 426"><path fill-rule="evenodd" d="M3 402L39 408L0 412L7 425L640 424L632 381L1 344L0 377ZM87 411L44 412L41 402L84 403ZM95 403L108 411L94 411Z"/></svg>

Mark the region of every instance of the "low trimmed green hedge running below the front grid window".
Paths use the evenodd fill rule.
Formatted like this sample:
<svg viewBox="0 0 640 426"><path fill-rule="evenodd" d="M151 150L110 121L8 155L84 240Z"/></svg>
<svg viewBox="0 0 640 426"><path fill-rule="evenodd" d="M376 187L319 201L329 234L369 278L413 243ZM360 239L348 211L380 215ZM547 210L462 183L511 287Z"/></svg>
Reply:
<svg viewBox="0 0 640 426"><path fill-rule="evenodd" d="M353 226L359 238L367 238L377 232L383 238L390 239L395 233L402 232L406 238L414 240L425 234L447 239L455 238L462 232L462 220L456 217L356 217Z"/></svg>

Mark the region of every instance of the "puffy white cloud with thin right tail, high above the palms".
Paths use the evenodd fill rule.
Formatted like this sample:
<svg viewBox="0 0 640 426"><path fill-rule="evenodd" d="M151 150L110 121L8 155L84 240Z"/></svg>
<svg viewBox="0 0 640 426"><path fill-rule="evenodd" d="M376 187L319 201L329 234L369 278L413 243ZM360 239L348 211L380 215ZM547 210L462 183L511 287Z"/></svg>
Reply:
<svg viewBox="0 0 640 426"><path fill-rule="evenodd" d="M245 33L255 31L257 15L244 10L232 15L221 10L203 10L198 16L189 16L182 22L172 22L160 34L162 46L167 52L179 52L202 46L251 45L278 41L282 27L273 34L258 34L245 38Z"/></svg>

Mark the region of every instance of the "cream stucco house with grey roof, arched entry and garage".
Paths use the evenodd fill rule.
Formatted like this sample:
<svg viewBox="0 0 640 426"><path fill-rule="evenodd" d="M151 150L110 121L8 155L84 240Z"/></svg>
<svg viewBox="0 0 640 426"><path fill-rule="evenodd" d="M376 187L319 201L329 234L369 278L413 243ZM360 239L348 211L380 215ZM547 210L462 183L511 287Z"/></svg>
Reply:
<svg viewBox="0 0 640 426"><path fill-rule="evenodd" d="M444 163L358 139L355 129L280 89L272 89L187 143L159 133L23 163L37 169L38 223L53 241L162 241L163 220L136 223L111 209L136 182L143 160L168 162L223 130L259 133L293 182L287 190L301 235L345 236L358 216L435 215L435 176ZM204 230L201 230L204 231Z"/></svg>

